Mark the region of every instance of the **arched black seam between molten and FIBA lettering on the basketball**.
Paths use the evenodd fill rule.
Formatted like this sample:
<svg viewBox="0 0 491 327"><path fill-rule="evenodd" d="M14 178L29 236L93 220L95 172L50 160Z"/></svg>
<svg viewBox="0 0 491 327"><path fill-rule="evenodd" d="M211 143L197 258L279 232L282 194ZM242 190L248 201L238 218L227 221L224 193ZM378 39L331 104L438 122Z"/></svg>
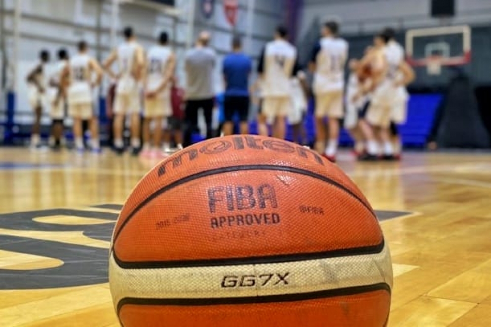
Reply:
<svg viewBox="0 0 491 327"><path fill-rule="evenodd" d="M338 182L336 182L330 178L327 178L325 176L322 176L320 174L316 174L316 173L313 173L311 171L301 169L301 168L295 168L295 167L286 167L286 166L277 166L277 165L240 165L240 166L215 168L215 169L206 170L204 172L199 172L199 173L196 173L193 175L189 175L189 176L182 178L180 180L177 180L175 182L172 182L172 183L165 185L165 186L161 187L160 189L156 190L148 198L146 198L138 206L136 206L136 208L133 209L133 211L128 215L126 220L124 220L124 222L121 224L121 227L119 227L119 230L114 235L113 244L116 242L119 234L121 234L121 231L123 230L124 226L126 226L126 224L131 220L131 218L133 218L133 216L138 211L140 211L140 209L145 207L150 201L152 201L154 198L161 195L162 193L164 193L164 192L166 192L166 191L168 191L168 190L170 190L176 186L197 180L199 178L208 177L208 176L212 176L212 175L216 175L216 174L223 174L223 173L237 172L237 171L248 171L248 170L271 170L271 171L283 171L283 172L289 172L289 173L296 173L296 174L300 174L300 175L304 175L304 176L309 176L309 177L321 180L323 182L330 183L330 184L342 189L343 191L345 191L346 193L348 193L349 195L351 195L355 199L357 199L361 204L363 204L364 207L366 207L370 211L370 213L372 213L374 218L377 218L375 216L375 213L373 212L372 208L367 203L365 203L365 201L363 201L356 194L354 194L350 189L348 189L347 187L341 185L340 183L338 183Z"/></svg>

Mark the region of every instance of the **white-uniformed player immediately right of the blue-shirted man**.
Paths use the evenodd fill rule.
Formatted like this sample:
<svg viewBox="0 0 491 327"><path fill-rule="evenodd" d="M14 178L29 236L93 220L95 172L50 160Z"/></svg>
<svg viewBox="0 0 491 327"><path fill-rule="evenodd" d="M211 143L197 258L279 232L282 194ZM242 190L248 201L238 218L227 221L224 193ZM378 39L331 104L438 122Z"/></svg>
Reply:
<svg viewBox="0 0 491 327"><path fill-rule="evenodd" d="M297 49L287 40L287 30L276 28L274 39L259 58L258 73L263 82L263 114L273 124L273 137L284 139L286 118L292 107L291 78L299 71Z"/></svg>

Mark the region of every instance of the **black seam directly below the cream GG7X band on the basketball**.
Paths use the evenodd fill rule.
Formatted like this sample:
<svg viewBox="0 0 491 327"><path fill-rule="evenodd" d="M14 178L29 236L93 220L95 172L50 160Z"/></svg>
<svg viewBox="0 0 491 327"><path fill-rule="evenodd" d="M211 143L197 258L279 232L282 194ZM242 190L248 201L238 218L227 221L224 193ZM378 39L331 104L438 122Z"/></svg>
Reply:
<svg viewBox="0 0 491 327"><path fill-rule="evenodd" d="M117 312L125 305L147 305L147 306L206 306L206 305L227 305L227 304L254 304L271 302L296 302L337 296L349 296L374 291L387 291L391 293L387 283L377 283L372 285L354 286L336 290L312 291L293 294L276 294L260 296L241 296L241 297L207 297L207 298L135 298L124 297L117 303Z"/></svg>

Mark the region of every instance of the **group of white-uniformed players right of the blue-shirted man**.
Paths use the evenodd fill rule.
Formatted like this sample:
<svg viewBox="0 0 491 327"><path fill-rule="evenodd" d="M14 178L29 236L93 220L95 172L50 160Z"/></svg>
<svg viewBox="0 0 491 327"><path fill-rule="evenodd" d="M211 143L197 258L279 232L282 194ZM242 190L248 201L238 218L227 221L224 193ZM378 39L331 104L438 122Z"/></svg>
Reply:
<svg viewBox="0 0 491 327"><path fill-rule="evenodd" d="M341 121L355 140L359 160L394 160L400 158L397 124L405 122L408 94L406 85L414 80L412 68L404 61L404 50L394 39L394 31L385 29L374 38L374 45L363 58L349 62L350 76L345 86L344 68L348 43L338 36L338 24L323 25L321 38L309 62L313 73L315 144L320 154L335 162ZM292 76L304 80L296 64L296 50L277 30L261 56L258 72L263 83L265 120L274 121L273 136L284 138L288 112L295 112L289 84ZM293 92L293 93L292 93ZM293 107L293 108L292 108ZM343 119L344 118L344 119ZM260 134L264 121L260 114ZM295 123L293 124L295 127ZM266 132L264 132L266 133ZM294 129L294 138L295 138ZM295 140L296 141L296 140Z"/></svg>

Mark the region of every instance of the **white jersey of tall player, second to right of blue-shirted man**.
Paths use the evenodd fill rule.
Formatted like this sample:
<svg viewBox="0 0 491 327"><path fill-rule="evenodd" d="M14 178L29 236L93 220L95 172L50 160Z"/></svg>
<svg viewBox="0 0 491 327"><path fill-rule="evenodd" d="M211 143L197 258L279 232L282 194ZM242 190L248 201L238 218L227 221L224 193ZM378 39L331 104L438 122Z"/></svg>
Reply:
<svg viewBox="0 0 491 327"><path fill-rule="evenodd" d="M344 66L348 57L348 43L342 38L323 37L314 49L315 62L313 91L322 94L342 91Z"/></svg>

